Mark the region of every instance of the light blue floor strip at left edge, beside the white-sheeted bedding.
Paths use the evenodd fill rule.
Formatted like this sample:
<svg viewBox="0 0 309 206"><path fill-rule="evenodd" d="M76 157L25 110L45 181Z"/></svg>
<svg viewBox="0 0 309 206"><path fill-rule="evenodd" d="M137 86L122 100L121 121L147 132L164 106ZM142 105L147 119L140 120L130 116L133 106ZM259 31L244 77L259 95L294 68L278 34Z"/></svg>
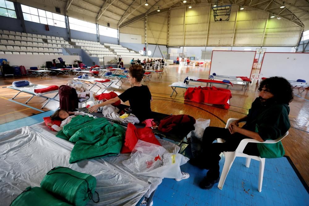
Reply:
<svg viewBox="0 0 309 206"><path fill-rule="evenodd" d="M0 124L0 132L9 131L11 129L17 129L25 126L31 126L43 122L43 117L51 116L55 110L45 111L37 115L25 117L19 120L14 120L8 123Z"/></svg>

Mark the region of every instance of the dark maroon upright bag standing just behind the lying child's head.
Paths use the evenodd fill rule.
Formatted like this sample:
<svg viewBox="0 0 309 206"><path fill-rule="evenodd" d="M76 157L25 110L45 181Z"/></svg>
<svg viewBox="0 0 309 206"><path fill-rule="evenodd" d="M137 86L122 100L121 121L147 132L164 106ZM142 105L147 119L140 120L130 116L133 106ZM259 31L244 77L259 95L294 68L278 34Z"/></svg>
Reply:
<svg viewBox="0 0 309 206"><path fill-rule="evenodd" d="M78 97L76 90L70 86L61 85L59 87L59 103L60 109L66 111L76 111L78 108Z"/></svg>

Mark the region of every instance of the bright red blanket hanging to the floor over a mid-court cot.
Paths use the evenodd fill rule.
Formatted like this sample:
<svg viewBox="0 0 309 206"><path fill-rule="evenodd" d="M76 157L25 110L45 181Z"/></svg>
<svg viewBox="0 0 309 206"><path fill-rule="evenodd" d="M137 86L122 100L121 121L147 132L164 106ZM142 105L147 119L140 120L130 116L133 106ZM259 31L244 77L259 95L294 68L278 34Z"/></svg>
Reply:
<svg viewBox="0 0 309 206"><path fill-rule="evenodd" d="M228 102L232 98L231 91L228 89L212 87L189 87L184 94L184 99L197 103L221 104L225 109L230 108Z"/></svg>

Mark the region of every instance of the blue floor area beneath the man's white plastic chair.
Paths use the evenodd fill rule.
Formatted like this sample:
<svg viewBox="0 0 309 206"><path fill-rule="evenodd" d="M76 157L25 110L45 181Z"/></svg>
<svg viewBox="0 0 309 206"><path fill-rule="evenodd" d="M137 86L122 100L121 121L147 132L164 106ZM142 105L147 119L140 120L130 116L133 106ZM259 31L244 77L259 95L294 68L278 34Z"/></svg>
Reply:
<svg viewBox="0 0 309 206"><path fill-rule="evenodd" d="M224 160L223 156L220 174ZM237 157L222 190L218 183L210 190L198 187L207 170L187 163L181 166L181 171L188 172L190 178L180 182L164 178L155 191L154 205L309 205L309 194L286 157L266 159L261 192L257 190L259 162L255 160L247 168L245 158Z"/></svg>

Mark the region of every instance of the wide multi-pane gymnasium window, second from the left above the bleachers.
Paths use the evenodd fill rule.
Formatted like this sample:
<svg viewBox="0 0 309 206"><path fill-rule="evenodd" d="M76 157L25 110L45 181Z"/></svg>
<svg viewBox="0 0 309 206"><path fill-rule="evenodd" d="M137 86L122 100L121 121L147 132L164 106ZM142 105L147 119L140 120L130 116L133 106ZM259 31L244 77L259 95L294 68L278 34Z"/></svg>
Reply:
<svg viewBox="0 0 309 206"><path fill-rule="evenodd" d="M66 28L65 17L63 15L25 5L21 5L21 9L23 11L23 19L26 21Z"/></svg>

